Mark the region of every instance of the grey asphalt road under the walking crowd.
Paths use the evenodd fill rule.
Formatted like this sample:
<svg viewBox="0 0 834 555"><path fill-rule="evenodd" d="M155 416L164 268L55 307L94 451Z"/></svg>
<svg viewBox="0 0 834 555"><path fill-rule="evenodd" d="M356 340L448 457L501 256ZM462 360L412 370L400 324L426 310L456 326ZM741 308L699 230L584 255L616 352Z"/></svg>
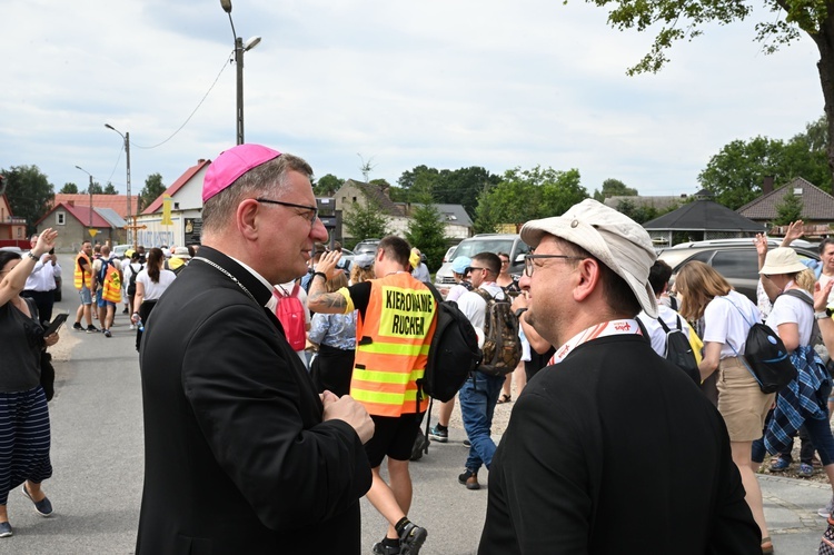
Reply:
<svg viewBox="0 0 834 555"><path fill-rule="evenodd" d="M78 297L68 274L72 260L62 255L61 264L64 296L57 309L75 315ZM72 316L69 321L52 349L57 358L57 393L50 403L54 472L43 488L54 514L42 518L19 490L11 492L8 508L14 535L0 538L0 555L133 553L143 448L135 335L120 313L109 339L73 331ZM431 444L429 454L411 464L410 517L428 529L425 555L474 554L486 513L488 475L479 476L483 488L478 492L457 484L466 457L464 433L459 427L449 433L448 444ZM770 476L759 482L777 553L816 553L825 529L816 507L828 499L828 486ZM385 534L386 523L366 499L361 506L363 553L369 554ZM340 553L332 541L311 538L311 553Z"/></svg>

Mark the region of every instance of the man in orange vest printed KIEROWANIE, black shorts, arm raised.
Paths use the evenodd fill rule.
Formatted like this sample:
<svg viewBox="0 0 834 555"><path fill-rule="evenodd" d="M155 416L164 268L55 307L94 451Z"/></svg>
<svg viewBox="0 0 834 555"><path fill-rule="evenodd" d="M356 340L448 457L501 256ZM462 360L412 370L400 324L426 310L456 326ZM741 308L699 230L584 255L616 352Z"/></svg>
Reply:
<svg viewBox="0 0 834 555"><path fill-rule="evenodd" d="M378 555L417 554L426 528L411 523L411 476L408 459L428 405L418 389L437 324L431 291L411 277L408 241L389 236L379 242L374 261L376 279L336 293L326 283L338 271L341 252L321 257L310 280L307 304L315 313L349 314L356 323L356 360L350 396L361 403L376 426L365 444L374 480L368 501L388 521L386 537L374 545ZM390 486L379 475L388 456Z"/></svg>

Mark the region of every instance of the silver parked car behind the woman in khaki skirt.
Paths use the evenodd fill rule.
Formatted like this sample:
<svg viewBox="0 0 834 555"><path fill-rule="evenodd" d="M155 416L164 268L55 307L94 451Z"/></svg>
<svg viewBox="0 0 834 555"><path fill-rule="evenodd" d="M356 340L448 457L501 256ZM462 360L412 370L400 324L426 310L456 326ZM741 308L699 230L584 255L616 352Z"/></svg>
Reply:
<svg viewBox="0 0 834 555"><path fill-rule="evenodd" d="M776 248L781 239L768 239L768 248ZM794 241L791 248L802 260L820 260L816 247L808 241ZM699 260L715 268L735 290L756 303L758 284L758 254L752 238L719 239L675 245L663 249L658 259L672 266L672 283L681 268L688 261Z"/></svg>

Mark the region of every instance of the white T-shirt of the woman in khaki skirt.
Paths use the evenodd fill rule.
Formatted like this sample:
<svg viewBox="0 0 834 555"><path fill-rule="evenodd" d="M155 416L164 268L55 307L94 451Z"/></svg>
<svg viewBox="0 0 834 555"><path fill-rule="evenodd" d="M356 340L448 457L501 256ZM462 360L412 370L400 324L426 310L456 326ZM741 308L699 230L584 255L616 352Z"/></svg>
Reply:
<svg viewBox="0 0 834 555"><path fill-rule="evenodd" d="M756 305L741 293L731 290L724 297L715 297L706 306L704 343L723 344L722 359L742 355L747 343L747 333L757 321L759 319Z"/></svg>

